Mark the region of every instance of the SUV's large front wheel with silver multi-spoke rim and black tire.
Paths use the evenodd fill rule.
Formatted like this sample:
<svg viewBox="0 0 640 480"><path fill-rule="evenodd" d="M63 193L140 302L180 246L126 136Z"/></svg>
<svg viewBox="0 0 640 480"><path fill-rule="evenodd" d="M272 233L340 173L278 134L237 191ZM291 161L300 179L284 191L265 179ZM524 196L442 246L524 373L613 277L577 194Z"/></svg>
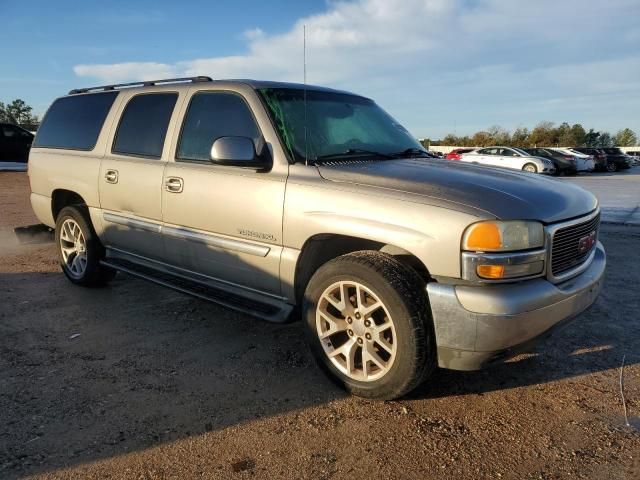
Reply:
<svg viewBox="0 0 640 480"><path fill-rule="evenodd" d="M354 395L398 398L435 368L424 283L390 255L355 252L320 267L307 286L303 316L317 363Z"/></svg>

